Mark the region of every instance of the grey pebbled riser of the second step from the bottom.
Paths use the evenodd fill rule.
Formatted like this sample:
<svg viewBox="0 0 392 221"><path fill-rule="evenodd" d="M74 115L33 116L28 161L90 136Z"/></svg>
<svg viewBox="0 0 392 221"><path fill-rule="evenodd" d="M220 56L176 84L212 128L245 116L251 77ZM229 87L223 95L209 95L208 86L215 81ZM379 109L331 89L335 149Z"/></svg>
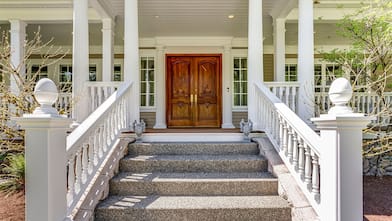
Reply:
<svg viewBox="0 0 392 221"><path fill-rule="evenodd" d="M121 182L110 183L113 195L249 196L277 195L277 180L237 182Z"/></svg>

